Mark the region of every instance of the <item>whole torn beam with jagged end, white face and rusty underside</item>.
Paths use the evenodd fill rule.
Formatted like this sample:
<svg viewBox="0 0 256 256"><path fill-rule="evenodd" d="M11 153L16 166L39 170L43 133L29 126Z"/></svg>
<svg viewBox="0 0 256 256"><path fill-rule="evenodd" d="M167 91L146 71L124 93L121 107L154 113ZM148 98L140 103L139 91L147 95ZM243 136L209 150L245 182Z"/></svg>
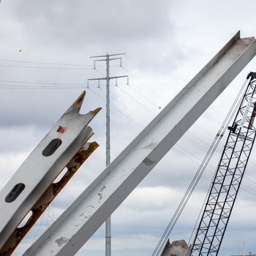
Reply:
<svg viewBox="0 0 256 256"><path fill-rule="evenodd" d="M93 135L88 124L101 109L80 114L85 95L86 91L83 91L1 190L0 255L10 255L10 253L5 254L6 249L14 248L14 245L20 242L23 234L31 228L30 226L42 214L41 211L48 206L52 200L50 197L56 196L66 181L72 177L74 167L80 167L84 157L88 157L92 148L96 146L94 143L89 143L88 148L83 148ZM65 167L68 170L61 182L53 184ZM35 173L35 169L36 175L31 175ZM48 197L50 191L52 194ZM18 228L29 212L32 213L29 222ZM2 252L3 248L5 248L4 252Z"/></svg>

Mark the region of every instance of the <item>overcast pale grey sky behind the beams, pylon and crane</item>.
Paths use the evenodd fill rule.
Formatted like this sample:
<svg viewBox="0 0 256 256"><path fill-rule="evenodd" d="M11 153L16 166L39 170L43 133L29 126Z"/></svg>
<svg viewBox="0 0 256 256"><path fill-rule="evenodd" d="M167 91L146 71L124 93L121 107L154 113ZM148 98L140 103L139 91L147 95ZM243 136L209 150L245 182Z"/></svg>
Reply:
<svg viewBox="0 0 256 256"><path fill-rule="evenodd" d="M110 76L129 75L129 80L111 80L113 160L238 30L241 37L256 36L255 7L254 0L1 0L0 189L83 90L81 113L102 107L90 124L90 141L97 141L99 148L14 255L21 255L105 169L105 83L88 79L105 78L106 67L105 61L94 63L90 57L126 53L121 62L110 62ZM256 59L115 211L113 256L154 252L251 71L256 71ZM189 243L224 143L170 241ZM255 166L254 150L219 255L242 255L244 242L246 254L256 253ZM34 171L36 175L36 167ZM105 255L105 226L77 255Z"/></svg>

